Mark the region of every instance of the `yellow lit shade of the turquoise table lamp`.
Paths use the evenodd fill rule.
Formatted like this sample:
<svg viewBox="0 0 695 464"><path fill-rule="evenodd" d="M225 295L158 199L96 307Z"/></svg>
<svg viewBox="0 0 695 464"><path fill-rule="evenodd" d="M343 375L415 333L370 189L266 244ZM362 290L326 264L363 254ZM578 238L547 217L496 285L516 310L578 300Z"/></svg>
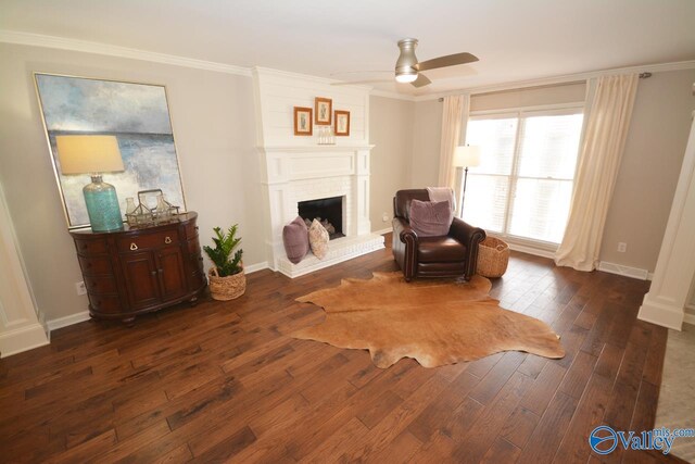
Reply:
<svg viewBox="0 0 695 464"><path fill-rule="evenodd" d="M124 171L115 136L58 136L55 143L63 174Z"/></svg>

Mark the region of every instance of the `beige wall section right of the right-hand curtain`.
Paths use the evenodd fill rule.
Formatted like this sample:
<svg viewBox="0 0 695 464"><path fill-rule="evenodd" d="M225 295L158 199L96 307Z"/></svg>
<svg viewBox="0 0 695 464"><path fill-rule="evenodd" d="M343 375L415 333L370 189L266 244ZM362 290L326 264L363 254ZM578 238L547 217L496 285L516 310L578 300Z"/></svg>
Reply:
<svg viewBox="0 0 695 464"><path fill-rule="evenodd" d="M601 260L654 272L683 163L695 70L640 79ZM628 243L619 253L618 242Z"/></svg>

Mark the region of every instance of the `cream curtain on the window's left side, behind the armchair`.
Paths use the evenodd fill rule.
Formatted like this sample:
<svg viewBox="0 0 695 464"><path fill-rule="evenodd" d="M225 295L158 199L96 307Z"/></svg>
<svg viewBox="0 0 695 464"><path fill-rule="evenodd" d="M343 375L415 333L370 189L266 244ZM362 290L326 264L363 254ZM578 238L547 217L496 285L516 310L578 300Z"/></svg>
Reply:
<svg viewBox="0 0 695 464"><path fill-rule="evenodd" d="M466 127L470 96L459 95L444 97L442 110L442 142L439 159L439 186L456 190L456 166L454 150L459 145L462 126Z"/></svg>

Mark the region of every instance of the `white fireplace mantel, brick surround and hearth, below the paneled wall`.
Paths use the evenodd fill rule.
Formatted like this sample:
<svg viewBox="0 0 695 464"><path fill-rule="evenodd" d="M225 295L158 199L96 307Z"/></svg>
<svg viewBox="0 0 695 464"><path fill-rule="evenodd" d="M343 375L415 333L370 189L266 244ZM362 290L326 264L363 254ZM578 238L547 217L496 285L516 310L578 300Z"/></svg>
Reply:
<svg viewBox="0 0 695 464"><path fill-rule="evenodd" d="M369 155L372 146L262 147L264 200L268 205L266 254L275 271L298 277L383 248L369 222ZM343 197L343 234L329 242L328 255L287 259L282 227L294 220L300 201Z"/></svg>

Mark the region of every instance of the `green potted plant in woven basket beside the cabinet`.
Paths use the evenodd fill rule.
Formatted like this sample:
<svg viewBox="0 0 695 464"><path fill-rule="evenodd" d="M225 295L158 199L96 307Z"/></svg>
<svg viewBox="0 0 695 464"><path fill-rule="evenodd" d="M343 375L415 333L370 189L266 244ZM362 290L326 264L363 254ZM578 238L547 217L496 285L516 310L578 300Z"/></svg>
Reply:
<svg viewBox="0 0 695 464"><path fill-rule="evenodd" d="M235 224L227 231L223 231L220 227L213 228L216 235L213 237L215 248L203 247L214 264L210 268L207 279L210 293L215 300L233 300L247 291L247 276L243 273L243 263L241 262L243 250L239 249L235 252L241 241L241 238L236 237L238 227L239 224Z"/></svg>

